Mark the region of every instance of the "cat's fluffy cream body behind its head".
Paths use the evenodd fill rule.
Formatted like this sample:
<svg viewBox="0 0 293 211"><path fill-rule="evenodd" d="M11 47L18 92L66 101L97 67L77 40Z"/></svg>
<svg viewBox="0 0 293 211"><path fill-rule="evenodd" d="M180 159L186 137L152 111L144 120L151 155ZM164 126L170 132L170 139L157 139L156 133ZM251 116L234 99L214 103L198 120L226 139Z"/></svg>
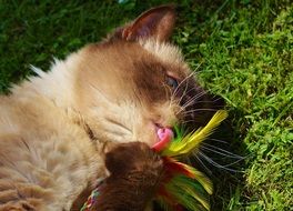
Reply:
<svg viewBox="0 0 293 211"><path fill-rule="evenodd" d="M104 177L101 149L71 111L77 60L55 61L52 71L1 97L0 210L14 200L37 210L70 210L82 190Z"/></svg>

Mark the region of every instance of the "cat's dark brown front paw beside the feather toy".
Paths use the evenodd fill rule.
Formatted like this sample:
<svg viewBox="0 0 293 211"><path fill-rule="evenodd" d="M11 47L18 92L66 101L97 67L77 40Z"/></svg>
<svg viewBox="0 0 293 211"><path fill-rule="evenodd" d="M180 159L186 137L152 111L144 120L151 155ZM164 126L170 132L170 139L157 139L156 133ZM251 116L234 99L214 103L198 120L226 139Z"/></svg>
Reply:
<svg viewBox="0 0 293 211"><path fill-rule="evenodd" d="M162 159L143 142L119 144L105 154L105 167L111 174L99 185L91 211L144 210L164 171Z"/></svg>

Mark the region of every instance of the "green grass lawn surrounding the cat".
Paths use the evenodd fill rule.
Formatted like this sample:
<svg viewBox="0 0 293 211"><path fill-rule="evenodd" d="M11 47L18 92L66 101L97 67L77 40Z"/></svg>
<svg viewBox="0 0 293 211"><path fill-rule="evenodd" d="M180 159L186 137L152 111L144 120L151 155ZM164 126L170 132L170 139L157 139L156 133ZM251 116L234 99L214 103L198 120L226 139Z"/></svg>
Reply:
<svg viewBox="0 0 293 211"><path fill-rule="evenodd" d="M36 1L37 2L37 1ZM166 1L0 0L0 91L47 70L84 43ZM290 0L179 3L173 41L199 79L222 96L238 170L214 175L213 210L290 210L293 205L293 4ZM219 161L221 162L221 161ZM233 168L233 167L232 167ZM223 182L224 181L224 182Z"/></svg>

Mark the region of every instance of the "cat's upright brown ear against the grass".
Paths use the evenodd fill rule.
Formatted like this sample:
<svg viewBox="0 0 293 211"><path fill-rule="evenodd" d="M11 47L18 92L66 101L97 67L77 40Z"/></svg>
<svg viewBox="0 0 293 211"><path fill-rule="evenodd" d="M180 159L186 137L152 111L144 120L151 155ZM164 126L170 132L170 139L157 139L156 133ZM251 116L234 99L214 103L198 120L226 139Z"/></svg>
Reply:
<svg viewBox="0 0 293 211"><path fill-rule="evenodd" d="M172 33L174 22L175 7L172 4L161 6L143 12L132 23L121 28L118 33L121 39L128 41L144 38L165 41Z"/></svg>

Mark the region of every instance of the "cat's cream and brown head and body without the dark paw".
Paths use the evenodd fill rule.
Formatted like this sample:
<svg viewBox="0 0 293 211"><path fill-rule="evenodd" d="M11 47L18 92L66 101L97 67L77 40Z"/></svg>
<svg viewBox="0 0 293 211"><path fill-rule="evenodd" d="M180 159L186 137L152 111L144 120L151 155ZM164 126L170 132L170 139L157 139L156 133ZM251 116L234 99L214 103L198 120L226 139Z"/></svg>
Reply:
<svg viewBox="0 0 293 211"><path fill-rule="evenodd" d="M150 9L0 97L0 210L78 210L117 143L205 123L214 102L168 42L174 22Z"/></svg>

